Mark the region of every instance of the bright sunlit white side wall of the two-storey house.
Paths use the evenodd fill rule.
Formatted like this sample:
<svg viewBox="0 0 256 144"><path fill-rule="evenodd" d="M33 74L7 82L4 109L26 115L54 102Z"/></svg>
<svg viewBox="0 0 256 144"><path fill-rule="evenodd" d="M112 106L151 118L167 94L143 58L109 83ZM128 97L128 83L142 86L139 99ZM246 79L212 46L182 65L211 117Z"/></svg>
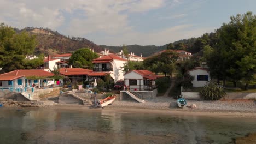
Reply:
<svg viewBox="0 0 256 144"><path fill-rule="evenodd" d="M118 81L121 79L124 79L124 73L123 73L123 69L120 69L121 67L124 67L124 63L127 63L125 61L119 61L117 59L114 59L114 61L112 62L113 65L113 71L111 71L110 76L114 79L114 81Z"/></svg>

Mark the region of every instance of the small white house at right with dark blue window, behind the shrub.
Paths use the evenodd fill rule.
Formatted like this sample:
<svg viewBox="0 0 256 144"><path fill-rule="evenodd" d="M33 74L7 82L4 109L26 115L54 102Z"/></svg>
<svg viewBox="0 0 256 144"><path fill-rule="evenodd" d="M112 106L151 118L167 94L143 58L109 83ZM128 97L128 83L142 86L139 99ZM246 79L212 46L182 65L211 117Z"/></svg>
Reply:
<svg viewBox="0 0 256 144"><path fill-rule="evenodd" d="M192 81L193 87L203 87L210 81L209 71L205 68L196 67L188 70L187 73L194 76L194 80Z"/></svg>

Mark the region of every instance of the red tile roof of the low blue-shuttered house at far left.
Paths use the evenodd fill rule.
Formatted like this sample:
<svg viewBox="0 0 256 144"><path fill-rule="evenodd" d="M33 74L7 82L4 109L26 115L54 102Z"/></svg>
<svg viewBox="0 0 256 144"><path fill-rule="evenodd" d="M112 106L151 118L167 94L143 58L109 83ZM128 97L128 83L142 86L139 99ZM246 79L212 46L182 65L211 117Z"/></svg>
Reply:
<svg viewBox="0 0 256 144"><path fill-rule="evenodd" d="M10 71L9 73L5 73L0 75L0 80L14 80L14 79L18 79L20 77L28 77L28 76L53 76L53 73L50 73L48 71L45 70L41 70L41 69L22 69L22 70L14 70L14 71Z"/></svg>

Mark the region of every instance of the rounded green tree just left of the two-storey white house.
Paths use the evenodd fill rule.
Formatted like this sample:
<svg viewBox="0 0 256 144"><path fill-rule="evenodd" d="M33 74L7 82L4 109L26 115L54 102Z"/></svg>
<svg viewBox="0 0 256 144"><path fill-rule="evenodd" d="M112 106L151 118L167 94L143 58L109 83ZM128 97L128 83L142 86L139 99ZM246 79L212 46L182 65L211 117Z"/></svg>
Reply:
<svg viewBox="0 0 256 144"><path fill-rule="evenodd" d="M69 64L73 65L75 68L92 69L92 60L97 57L97 53L92 52L89 48L82 48L72 54L69 58Z"/></svg>

